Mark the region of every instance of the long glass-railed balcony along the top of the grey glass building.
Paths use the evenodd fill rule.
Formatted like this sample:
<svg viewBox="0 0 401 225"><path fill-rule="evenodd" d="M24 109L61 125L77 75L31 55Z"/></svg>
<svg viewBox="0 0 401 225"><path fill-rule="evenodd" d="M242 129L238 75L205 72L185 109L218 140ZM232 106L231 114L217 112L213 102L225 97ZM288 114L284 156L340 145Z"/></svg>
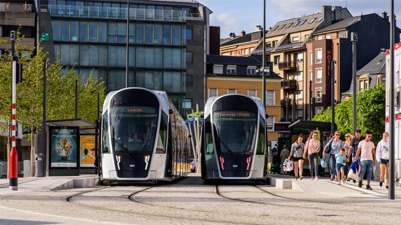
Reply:
<svg viewBox="0 0 401 225"><path fill-rule="evenodd" d="M127 8L120 7L49 4L48 11L52 16L59 17L127 19ZM198 14L186 13L180 10L156 10L146 8L129 9L129 19L132 20L185 22L186 16L188 18L200 17Z"/></svg>

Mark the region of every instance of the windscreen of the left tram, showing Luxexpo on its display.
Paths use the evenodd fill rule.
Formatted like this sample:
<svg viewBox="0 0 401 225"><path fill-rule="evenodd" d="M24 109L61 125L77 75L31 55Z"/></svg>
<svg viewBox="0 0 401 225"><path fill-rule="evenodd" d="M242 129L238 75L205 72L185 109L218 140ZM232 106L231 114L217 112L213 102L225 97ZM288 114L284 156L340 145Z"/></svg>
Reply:
<svg viewBox="0 0 401 225"><path fill-rule="evenodd" d="M151 152L157 130L158 109L114 106L110 125L114 152Z"/></svg>

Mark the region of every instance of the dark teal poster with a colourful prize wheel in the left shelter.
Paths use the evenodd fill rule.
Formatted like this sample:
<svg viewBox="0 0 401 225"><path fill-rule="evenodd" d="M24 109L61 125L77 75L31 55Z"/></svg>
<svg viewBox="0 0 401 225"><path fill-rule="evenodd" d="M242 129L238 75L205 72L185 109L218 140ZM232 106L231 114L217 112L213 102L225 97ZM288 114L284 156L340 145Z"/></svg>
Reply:
<svg viewBox="0 0 401 225"><path fill-rule="evenodd" d="M77 167L77 129L50 129L52 167Z"/></svg>

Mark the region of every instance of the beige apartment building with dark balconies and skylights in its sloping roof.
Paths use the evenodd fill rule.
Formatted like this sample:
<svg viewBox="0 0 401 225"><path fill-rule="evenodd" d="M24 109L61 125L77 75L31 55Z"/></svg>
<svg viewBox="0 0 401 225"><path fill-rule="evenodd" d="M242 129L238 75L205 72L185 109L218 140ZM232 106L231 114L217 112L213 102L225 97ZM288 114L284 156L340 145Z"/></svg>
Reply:
<svg viewBox="0 0 401 225"><path fill-rule="evenodd" d="M273 62L273 71L283 79L281 82L282 121L307 118L305 110L308 85L306 43L312 33L349 17L351 14L347 8L322 6L321 13L277 22L267 33L267 61ZM251 54L262 53L263 46L260 41Z"/></svg>

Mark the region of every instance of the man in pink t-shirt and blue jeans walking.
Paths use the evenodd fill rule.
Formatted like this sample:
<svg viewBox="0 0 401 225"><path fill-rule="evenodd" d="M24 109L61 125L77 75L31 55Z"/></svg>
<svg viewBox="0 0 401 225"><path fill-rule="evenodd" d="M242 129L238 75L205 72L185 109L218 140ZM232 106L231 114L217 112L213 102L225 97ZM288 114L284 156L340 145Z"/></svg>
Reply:
<svg viewBox="0 0 401 225"><path fill-rule="evenodd" d="M359 171L359 182L358 186L362 187L363 175L367 172L367 184L366 189L371 190L370 178L372 176L372 170L375 163L374 154L374 143L370 141L372 138L372 132L366 131L366 136L363 141L359 141L358 150L356 151L355 158L360 154L360 171Z"/></svg>

